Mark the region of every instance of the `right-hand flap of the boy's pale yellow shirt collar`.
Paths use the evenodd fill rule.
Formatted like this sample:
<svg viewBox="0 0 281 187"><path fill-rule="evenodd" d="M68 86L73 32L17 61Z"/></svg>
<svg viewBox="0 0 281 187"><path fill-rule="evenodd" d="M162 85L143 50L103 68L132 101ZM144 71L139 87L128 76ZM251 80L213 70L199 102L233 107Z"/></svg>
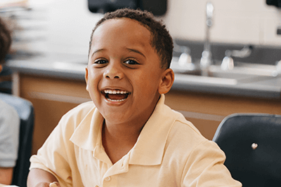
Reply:
<svg viewBox="0 0 281 187"><path fill-rule="evenodd" d="M176 120L161 95L155 110L143 127L135 146L130 151L129 164L159 165L162 162L166 139Z"/></svg>

